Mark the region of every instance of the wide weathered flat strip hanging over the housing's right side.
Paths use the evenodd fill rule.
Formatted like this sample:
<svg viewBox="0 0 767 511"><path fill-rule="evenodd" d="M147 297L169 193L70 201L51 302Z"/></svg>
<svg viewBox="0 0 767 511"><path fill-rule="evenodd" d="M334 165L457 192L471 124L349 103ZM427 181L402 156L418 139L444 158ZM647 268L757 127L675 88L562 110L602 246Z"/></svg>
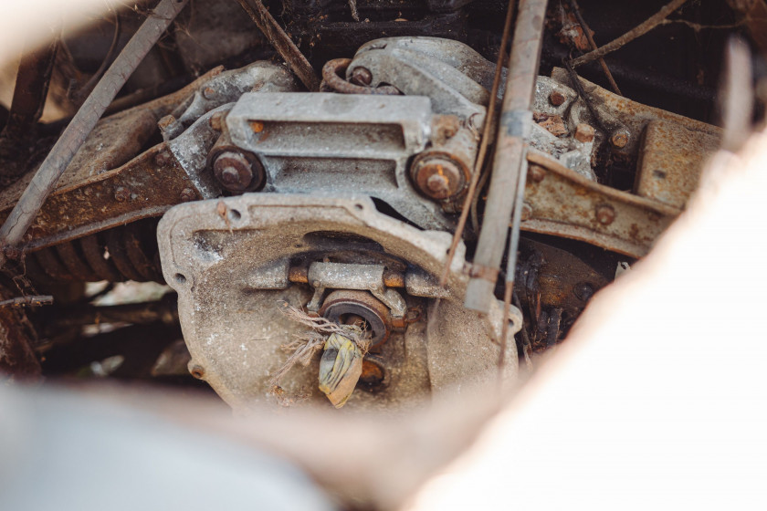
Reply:
<svg viewBox="0 0 767 511"><path fill-rule="evenodd" d="M518 9L485 219L464 302L466 308L483 314L489 312L491 300L495 299L493 291L506 249L513 197L518 187L524 190L522 161L525 137L531 130L532 95L541 59L546 0L521 0Z"/></svg>

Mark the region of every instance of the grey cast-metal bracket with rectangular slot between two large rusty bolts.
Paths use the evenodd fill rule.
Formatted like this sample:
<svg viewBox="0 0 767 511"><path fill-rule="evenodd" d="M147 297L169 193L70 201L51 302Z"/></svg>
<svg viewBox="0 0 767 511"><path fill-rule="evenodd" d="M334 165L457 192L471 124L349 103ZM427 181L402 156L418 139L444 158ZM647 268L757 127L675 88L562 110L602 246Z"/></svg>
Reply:
<svg viewBox="0 0 767 511"><path fill-rule="evenodd" d="M226 116L232 142L257 155L264 192L364 193L425 229L452 220L415 190L407 162L424 151L426 97L330 93L245 94Z"/></svg>

